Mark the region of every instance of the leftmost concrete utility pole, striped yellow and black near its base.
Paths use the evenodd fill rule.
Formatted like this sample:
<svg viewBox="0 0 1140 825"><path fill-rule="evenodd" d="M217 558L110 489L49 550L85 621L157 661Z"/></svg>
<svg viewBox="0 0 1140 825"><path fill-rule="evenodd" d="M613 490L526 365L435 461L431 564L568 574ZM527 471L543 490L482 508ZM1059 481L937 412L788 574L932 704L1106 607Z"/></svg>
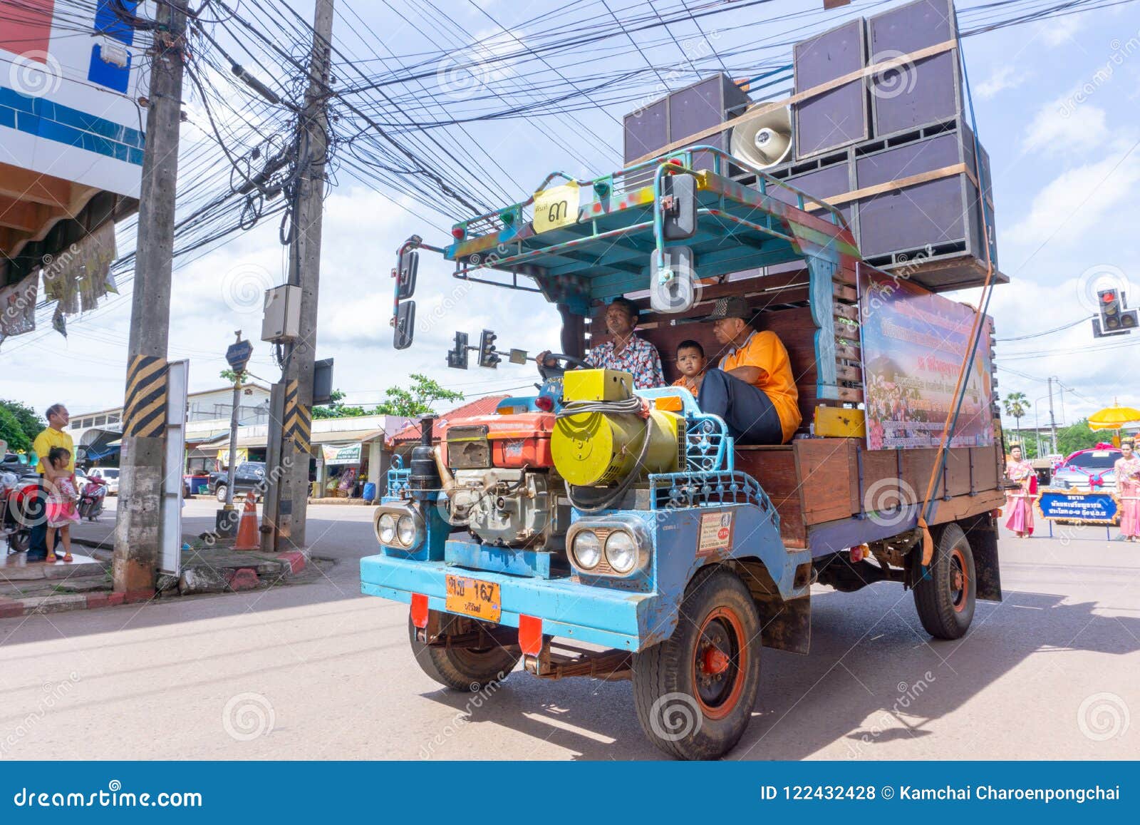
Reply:
<svg viewBox="0 0 1140 825"><path fill-rule="evenodd" d="M146 147L139 189L135 292L127 350L122 479L115 529L116 592L154 592L162 544L163 455L166 438L166 343L174 254L174 187L182 113L187 0L158 3ZM180 472L181 468L168 468Z"/></svg>

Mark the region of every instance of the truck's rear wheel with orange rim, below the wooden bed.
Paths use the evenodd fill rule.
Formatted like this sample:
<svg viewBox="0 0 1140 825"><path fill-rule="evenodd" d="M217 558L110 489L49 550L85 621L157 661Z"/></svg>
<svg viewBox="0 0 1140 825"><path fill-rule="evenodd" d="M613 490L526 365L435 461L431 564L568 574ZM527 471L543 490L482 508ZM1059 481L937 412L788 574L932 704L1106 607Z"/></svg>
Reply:
<svg viewBox="0 0 1140 825"><path fill-rule="evenodd" d="M976 597L974 551L962 528L951 521L937 535L930 567L914 585L914 607L930 636L961 639L974 621Z"/></svg>

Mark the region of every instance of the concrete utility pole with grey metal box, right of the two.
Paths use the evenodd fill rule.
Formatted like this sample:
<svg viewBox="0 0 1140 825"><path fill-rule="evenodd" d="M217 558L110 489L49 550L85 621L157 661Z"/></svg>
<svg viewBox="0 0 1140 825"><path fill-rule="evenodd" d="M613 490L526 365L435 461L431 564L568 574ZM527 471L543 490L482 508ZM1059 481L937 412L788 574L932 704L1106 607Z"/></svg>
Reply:
<svg viewBox="0 0 1140 825"><path fill-rule="evenodd" d="M275 387L269 422L269 494L266 518L276 535L266 545L278 550L304 547L309 504L309 451L312 421L312 363L317 347L317 296L320 281L320 225L325 194L327 152L329 51L333 39L333 0L317 0L309 88L299 123L298 163L303 171L293 203L293 237L290 244L288 283L301 288L299 337L284 347L282 383ZM280 414L276 414L280 410Z"/></svg>

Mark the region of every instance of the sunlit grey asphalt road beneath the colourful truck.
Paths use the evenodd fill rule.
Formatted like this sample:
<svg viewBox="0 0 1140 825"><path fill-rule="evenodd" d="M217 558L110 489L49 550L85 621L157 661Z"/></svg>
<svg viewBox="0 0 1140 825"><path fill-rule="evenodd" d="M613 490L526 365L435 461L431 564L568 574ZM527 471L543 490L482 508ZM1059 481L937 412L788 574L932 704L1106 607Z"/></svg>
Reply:
<svg viewBox="0 0 1140 825"><path fill-rule="evenodd" d="M190 502L188 529L214 507ZM407 608L359 595L370 515L310 509L337 559L315 583L0 620L0 759L658 758L628 682L515 672L465 695L424 676ZM956 642L898 585L819 588L812 654L764 650L731 758L1135 758L1140 545L1085 528L1001 552L1005 600Z"/></svg>

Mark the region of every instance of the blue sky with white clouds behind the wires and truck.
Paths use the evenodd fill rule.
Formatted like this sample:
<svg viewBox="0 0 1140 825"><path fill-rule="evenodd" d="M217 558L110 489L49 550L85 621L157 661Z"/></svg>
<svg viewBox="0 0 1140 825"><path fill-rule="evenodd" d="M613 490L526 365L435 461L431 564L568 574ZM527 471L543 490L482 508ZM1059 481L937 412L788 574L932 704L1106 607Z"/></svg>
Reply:
<svg viewBox="0 0 1140 825"><path fill-rule="evenodd" d="M494 11L505 29L523 38L526 29L515 29L515 23L536 14L536 6L526 3L445 0L438 5L472 33L473 42L417 31L393 14L401 6L397 0L391 5L357 0L352 8L367 26L341 10L334 38L347 52L359 51L364 42L382 42L398 55L451 48L440 62L443 73L449 68L446 60L494 54L503 48L504 38L510 39L484 11ZM840 9L836 22L850 8L868 5ZM963 0L960 9L976 5ZM780 14L803 9L820 19L819 0L776 0L774 6ZM311 14L311 3L296 8ZM754 6L741 14L762 18L773 13ZM698 37L692 26L674 29L683 42ZM705 42L715 43L717 50L738 42L732 26L705 29ZM785 21L773 30L793 29ZM678 60L676 46L669 48L644 48L642 55L629 46L606 59L616 66L649 60L667 67ZM1044 416L1047 379L1056 377L1066 388L1061 395L1054 383L1059 424L1114 398L1140 406L1140 383L1132 378L1140 337L1094 341L1089 322L1029 337L1090 315L1097 289L1106 285L1123 286L1133 306L1140 306L1140 232L1133 194L1140 185L1140 3L979 34L966 40L963 50L978 135L991 156L1000 268L1010 277L1008 285L994 289L990 306L999 339L999 393L1025 393L1031 405L1040 402ZM439 78L446 80L443 74ZM462 110L472 82L508 88L522 80L511 70L488 67L473 80L467 75L451 83L453 100L445 104ZM659 94L654 78L644 82L649 98ZM686 82L691 81L677 86ZM188 108L184 151L207 139L193 102ZM516 200L524 200L553 170L577 177L611 171L620 165L621 115L630 108L619 104L557 119L473 124L471 139L506 175L498 169L470 171L494 175ZM472 362L466 372L449 370L446 350L455 331L469 332L474 341L482 329L495 330L504 348L556 349L559 318L553 307L534 294L456 281L450 265L426 252L416 292L415 345L400 353L392 349L390 272L397 248L412 234L445 245L450 220L466 216L446 215L442 205L431 213L343 171L325 205L317 357L335 358L334 385L345 393L347 402L377 403L386 387L405 385L417 372L469 396L531 386L532 367L503 363L489 371ZM258 340L262 292L285 280L277 235L277 220L268 219L176 272L170 357L189 359L192 390L222 383L222 354L235 330L254 343L252 374L266 382L279 375L269 345ZM977 301L977 291L954 297ZM129 330L130 285L99 310L70 318L67 338L41 327L7 341L0 347L0 397L40 410L62 401L73 414L121 404ZM1023 424L1032 422L1031 413Z"/></svg>

